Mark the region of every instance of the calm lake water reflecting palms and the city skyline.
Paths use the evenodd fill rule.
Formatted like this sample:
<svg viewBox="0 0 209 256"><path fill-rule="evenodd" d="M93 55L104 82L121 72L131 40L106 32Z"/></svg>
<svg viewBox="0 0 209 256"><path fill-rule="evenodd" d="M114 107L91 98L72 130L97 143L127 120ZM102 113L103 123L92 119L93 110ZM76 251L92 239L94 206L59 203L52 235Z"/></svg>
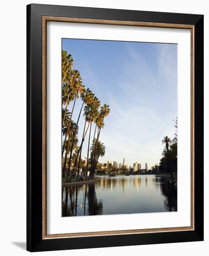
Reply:
<svg viewBox="0 0 209 256"><path fill-rule="evenodd" d="M100 176L95 183L63 187L62 216L177 210L174 183L155 175Z"/></svg>

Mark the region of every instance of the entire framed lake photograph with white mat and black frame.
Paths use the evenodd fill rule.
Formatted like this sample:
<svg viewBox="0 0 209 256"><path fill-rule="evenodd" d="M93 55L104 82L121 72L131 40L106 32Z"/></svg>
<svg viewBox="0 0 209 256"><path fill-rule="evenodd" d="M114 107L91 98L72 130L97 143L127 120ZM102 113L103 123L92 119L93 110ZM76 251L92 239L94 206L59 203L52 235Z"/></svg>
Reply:
<svg viewBox="0 0 209 256"><path fill-rule="evenodd" d="M203 240L203 15L27 6L27 250Z"/></svg>

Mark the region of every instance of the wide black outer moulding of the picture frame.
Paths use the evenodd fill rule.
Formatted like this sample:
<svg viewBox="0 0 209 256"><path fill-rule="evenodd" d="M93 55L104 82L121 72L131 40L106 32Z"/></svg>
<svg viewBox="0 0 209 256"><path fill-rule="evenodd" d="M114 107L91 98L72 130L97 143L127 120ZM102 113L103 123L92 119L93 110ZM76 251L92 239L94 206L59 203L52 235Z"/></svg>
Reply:
<svg viewBox="0 0 209 256"><path fill-rule="evenodd" d="M194 230L42 238L42 17L194 26ZM27 6L27 250L47 251L203 240L203 15L31 4Z"/></svg>

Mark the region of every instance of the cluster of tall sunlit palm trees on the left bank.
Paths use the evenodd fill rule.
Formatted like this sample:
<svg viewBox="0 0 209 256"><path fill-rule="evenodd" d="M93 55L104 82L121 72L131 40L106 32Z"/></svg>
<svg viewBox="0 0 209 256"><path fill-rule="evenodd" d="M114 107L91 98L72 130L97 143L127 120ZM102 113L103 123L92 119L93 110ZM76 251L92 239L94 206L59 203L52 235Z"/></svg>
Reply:
<svg viewBox="0 0 209 256"><path fill-rule="evenodd" d="M76 100L80 98L82 106L80 108L77 121L73 120L73 111ZM72 108L69 110L69 105L72 103ZM84 129L82 140L78 146L78 123L81 113L85 117ZM79 169L82 163L81 153L87 132L88 137L88 150L86 158L86 175L85 179L94 178L94 173L97 167L98 159L105 154L105 146L99 141L101 129L104 128L104 118L109 115L110 108L107 104L100 107L100 101L91 92L89 88L85 88L78 70L73 69L72 55L67 51L62 51L62 176L66 178L66 182L71 182L72 178L76 175L78 181ZM91 141L91 127L95 124L94 136L92 145ZM91 157L89 158L89 151ZM90 175L88 177L88 170Z"/></svg>

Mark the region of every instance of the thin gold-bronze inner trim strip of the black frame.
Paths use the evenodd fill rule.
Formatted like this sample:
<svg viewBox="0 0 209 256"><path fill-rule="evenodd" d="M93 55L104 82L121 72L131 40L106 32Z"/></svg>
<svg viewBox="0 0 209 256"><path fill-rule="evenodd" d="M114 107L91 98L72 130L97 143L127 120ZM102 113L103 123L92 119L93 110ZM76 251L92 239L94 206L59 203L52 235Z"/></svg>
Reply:
<svg viewBox="0 0 209 256"><path fill-rule="evenodd" d="M137 26L137 27L164 27L164 28L181 28L190 30L190 70L191 70L191 88L190 88L190 131L191 131L191 225L189 227L175 228L157 228L157 229L131 229L131 230L115 230L115 231L98 231L98 232L82 232L82 233L65 233L65 234L47 234L46 232L46 23L47 21L55 22L76 22L88 24L103 25L120 25L120 26ZM187 231L194 230L194 26L187 24L170 24L155 22L140 22L126 20L98 20L83 18L66 18L42 16L42 239L61 238L61 237L80 237L80 236L106 236L106 235L127 235L142 233L157 233L170 231Z"/></svg>

